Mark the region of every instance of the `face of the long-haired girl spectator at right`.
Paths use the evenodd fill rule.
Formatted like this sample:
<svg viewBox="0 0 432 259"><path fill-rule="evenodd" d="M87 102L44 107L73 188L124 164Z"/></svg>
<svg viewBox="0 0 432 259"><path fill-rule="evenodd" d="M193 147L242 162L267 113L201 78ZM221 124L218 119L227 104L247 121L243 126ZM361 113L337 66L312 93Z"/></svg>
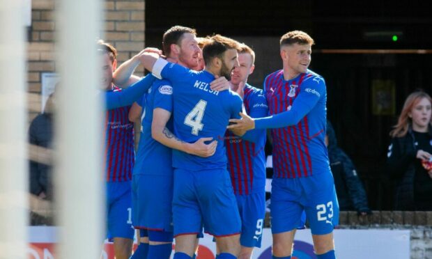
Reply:
<svg viewBox="0 0 432 259"><path fill-rule="evenodd" d="M408 117L412 119L412 130L416 132L427 132L431 123L432 108L427 98L422 98L412 107Z"/></svg>

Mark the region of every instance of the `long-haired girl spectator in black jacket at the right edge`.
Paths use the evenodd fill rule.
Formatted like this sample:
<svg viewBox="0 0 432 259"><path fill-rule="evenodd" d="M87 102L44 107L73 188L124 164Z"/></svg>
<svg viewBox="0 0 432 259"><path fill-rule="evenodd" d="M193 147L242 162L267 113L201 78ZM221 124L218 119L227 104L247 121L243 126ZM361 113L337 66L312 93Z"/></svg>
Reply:
<svg viewBox="0 0 432 259"><path fill-rule="evenodd" d="M390 132L387 164L396 180L396 210L432 210L431 106L427 93L411 93Z"/></svg>

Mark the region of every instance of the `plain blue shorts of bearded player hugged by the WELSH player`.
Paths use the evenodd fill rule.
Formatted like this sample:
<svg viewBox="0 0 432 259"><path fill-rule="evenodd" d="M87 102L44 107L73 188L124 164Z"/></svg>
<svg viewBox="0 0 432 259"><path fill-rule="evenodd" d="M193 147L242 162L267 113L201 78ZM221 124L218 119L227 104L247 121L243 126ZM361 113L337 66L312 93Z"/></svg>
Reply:
<svg viewBox="0 0 432 259"><path fill-rule="evenodd" d="M172 199L171 175L133 175L134 228L172 232Z"/></svg>

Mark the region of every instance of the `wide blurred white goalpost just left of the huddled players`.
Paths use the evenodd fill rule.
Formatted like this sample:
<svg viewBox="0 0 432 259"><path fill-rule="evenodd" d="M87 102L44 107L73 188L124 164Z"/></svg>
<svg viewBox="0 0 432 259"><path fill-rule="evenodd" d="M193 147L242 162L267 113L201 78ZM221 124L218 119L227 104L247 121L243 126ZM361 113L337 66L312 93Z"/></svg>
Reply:
<svg viewBox="0 0 432 259"><path fill-rule="evenodd" d="M61 82L56 116L56 203L59 250L65 259L99 258L105 189L102 177L102 100L95 40L100 0L61 0L56 13ZM100 67L100 65L99 65Z"/></svg>

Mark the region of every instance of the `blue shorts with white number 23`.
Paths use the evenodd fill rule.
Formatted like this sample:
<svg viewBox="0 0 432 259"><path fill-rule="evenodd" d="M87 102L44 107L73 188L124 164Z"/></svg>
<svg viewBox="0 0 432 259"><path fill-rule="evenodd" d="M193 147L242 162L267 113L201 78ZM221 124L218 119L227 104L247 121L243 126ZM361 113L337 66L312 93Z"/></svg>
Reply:
<svg viewBox="0 0 432 259"><path fill-rule="evenodd" d="M313 235L332 233L339 223L339 205L330 172L302 178L273 178L271 199L273 234L300 226L303 211Z"/></svg>

